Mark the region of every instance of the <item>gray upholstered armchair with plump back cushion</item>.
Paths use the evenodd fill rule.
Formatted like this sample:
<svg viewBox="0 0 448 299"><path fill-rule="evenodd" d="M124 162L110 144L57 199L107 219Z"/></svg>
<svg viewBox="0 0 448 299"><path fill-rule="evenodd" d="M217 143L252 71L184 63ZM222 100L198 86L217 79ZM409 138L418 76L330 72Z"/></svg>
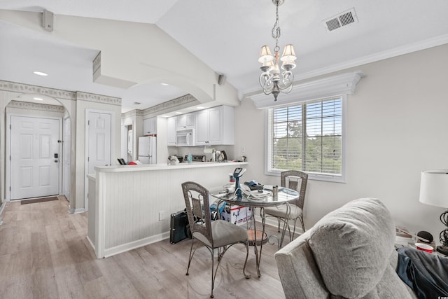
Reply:
<svg viewBox="0 0 448 299"><path fill-rule="evenodd" d="M395 273L395 225L379 200L353 200L275 253L286 298L416 298Z"/></svg>

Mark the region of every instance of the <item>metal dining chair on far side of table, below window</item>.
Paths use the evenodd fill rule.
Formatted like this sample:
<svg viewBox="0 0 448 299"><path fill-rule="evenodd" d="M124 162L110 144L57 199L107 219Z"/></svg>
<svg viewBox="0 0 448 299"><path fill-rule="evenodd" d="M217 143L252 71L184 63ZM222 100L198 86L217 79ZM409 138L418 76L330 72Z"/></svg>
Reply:
<svg viewBox="0 0 448 299"><path fill-rule="evenodd" d="M279 223L279 232L280 232L280 223L281 221L286 221L288 231L289 231L289 239L292 241L294 239L295 234L295 224L297 223L297 219L300 220L300 224L302 224L302 232L305 231L305 226L303 222L303 206L305 201L305 193L307 191L307 182L308 182L308 174L304 172L300 172L298 170L287 170L285 172L280 173L280 185L282 187L290 188L293 190L297 190L299 193L299 197L297 200L292 200L288 202L290 206L290 214L288 219L286 219L286 207L284 204L281 204L276 207L267 207L265 208L266 216L273 216L277 218ZM299 185L300 183L300 185ZM299 189L300 186L300 189ZM289 227L289 221L294 221L294 229L293 234L291 235L291 230Z"/></svg>

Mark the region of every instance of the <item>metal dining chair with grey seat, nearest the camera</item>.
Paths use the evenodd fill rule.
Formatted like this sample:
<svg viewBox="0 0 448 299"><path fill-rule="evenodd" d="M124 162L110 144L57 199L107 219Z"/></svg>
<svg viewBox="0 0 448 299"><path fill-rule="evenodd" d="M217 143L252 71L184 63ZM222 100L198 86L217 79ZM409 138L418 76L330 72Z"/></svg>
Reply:
<svg viewBox="0 0 448 299"><path fill-rule="evenodd" d="M246 246L246 260L244 261L243 274L244 277L249 278L246 274L246 263L249 254L248 235L244 228L233 223L215 220L211 221L210 204L209 204L209 190L198 183L187 181L182 183L183 197L185 199L188 223L192 234L192 242L190 248L190 258L188 259L188 270L193 255L199 244L207 247L211 253L211 295L214 298L213 289L216 279L216 272L218 272L219 263L224 256L224 253L232 246L238 243ZM196 246L194 244L196 243ZM218 249L218 264L214 268L214 252Z"/></svg>

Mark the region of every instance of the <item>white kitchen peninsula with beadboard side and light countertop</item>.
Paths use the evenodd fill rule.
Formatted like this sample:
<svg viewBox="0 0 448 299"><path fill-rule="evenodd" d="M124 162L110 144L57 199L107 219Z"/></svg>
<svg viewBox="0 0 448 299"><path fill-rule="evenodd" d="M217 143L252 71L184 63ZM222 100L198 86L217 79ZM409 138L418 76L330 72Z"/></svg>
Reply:
<svg viewBox="0 0 448 299"><path fill-rule="evenodd" d="M170 214L185 208L181 183L206 188L229 181L247 162L95 167L89 179L87 239L97 258L113 256L169 237Z"/></svg>

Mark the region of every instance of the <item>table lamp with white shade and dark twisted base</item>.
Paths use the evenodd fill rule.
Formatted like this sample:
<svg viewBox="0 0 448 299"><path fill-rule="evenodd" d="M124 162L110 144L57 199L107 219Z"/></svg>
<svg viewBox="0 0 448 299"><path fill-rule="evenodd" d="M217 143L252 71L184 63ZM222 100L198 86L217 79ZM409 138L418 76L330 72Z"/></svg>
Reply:
<svg viewBox="0 0 448 299"><path fill-rule="evenodd" d="M435 207L448 208L448 169L421 172L419 201ZM440 221L446 228L440 232L442 246L437 246L437 251L448 255L448 209L440 215Z"/></svg>

